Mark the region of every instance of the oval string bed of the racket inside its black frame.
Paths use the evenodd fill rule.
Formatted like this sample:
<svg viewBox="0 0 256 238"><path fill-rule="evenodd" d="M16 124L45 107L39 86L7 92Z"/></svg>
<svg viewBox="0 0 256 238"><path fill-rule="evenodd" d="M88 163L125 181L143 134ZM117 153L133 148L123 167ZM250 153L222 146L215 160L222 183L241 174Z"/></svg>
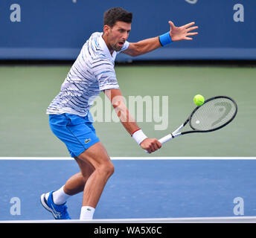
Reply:
<svg viewBox="0 0 256 238"><path fill-rule="evenodd" d="M200 131L219 128L228 123L237 112L234 102L220 97L205 102L191 117L191 127Z"/></svg>

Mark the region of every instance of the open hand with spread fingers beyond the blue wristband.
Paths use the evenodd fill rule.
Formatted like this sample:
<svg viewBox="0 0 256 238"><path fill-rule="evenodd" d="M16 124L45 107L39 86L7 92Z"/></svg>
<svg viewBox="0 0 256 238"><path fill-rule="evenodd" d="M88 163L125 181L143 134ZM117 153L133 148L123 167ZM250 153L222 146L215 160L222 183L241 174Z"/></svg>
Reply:
<svg viewBox="0 0 256 238"><path fill-rule="evenodd" d="M191 27L192 25L195 25L195 22L182 25L181 27L176 27L171 21L169 21L169 24L170 24L170 37L173 42L176 42L182 39L192 40L193 38L188 36L194 36L198 34L198 32L191 32L191 30L196 30L198 28L198 26Z"/></svg>

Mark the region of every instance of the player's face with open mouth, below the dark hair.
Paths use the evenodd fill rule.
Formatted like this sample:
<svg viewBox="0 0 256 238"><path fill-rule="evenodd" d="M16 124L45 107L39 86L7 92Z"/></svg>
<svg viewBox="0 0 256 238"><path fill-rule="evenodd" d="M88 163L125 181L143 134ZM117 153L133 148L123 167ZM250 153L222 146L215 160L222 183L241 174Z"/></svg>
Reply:
<svg viewBox="0 0 256 238"><path fill-rule="evenodd" d="M124 42L128 39L131 30L131 23L116 22L112 28L108 28L106 33L106 45L109 51L121 51Z"/></svg>

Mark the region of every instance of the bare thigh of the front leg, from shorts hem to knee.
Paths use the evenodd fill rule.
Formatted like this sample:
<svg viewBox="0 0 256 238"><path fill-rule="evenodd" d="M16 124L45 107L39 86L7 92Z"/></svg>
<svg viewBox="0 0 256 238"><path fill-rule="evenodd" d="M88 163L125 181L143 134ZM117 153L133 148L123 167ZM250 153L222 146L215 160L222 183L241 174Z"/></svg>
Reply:
<svg viewBox="0 0 256 238"><path fill-rule="evenodd" d="M103 167L106 168L106 170L114 170L112 161L101 142L93 144L92 147L89 147L89 149L86 149L77 157L82 161L87 161L95 169ZM114 171L112 171L112 173L113 172Z"/></svg>

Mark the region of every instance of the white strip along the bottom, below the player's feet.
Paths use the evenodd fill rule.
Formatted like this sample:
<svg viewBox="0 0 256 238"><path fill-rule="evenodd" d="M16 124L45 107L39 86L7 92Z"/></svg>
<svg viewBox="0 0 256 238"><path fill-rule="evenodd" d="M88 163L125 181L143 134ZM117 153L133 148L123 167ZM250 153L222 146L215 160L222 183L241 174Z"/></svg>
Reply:
<svg viewBox="0 0 256 238"><path fill-rule="evenodd" d="M92 219L92 220L5 220L0 223L256 223L256 216L216 216L151 219Z"/></svg>

